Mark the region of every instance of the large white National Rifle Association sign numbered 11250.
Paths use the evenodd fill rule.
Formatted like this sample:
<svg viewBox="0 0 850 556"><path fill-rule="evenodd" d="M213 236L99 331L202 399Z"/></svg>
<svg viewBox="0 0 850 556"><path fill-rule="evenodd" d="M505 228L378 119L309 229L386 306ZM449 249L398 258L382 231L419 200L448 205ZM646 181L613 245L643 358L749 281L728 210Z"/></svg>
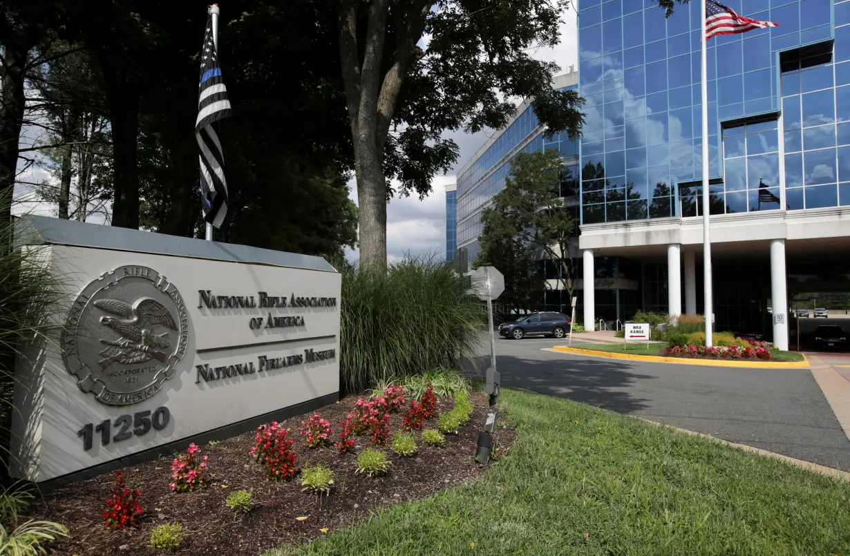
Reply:
<svg viewBox="0 0 850 556"><path fill-rule="evenodd" d="M61 338L16 367L14 477L61 478L339 391L330 265L43 249L68 296L52 311Z"/></svg>

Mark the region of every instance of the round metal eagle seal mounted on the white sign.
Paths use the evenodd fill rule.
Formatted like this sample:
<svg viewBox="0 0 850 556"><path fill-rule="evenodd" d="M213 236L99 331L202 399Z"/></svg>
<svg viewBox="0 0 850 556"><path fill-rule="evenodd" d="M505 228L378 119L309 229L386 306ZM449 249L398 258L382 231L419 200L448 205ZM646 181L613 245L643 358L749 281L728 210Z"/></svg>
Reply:
<svg viewBox="0 0 850 556"><path fill-rule="evenodd" d="M83 392L111 406L150 398L186 353L189 315L177 288L146 266L118 267L92 281L68 312L65 368Z"/></svg>

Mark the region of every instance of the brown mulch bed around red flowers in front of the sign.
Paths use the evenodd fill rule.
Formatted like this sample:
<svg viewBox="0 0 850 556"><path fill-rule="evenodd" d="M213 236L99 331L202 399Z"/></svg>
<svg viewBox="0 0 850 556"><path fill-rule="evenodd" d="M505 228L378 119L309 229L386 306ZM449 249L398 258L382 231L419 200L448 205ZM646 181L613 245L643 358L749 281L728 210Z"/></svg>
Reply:
<svg viewBox="0 0 850 556"><path fill-rule="evenodd" d="M331 440L338 439L339 423L348 412L354 411L356 400L356 396L348 396L319 410L321 417L331 423ZM150 547L150 531L170 521L184 527L181 554L257 556L269 548L306 542L356 524L366 519L372 509L431 496L450 486L477 479L484 468L473 458L479 430L486 417L487 401L482 393L471 393L469 400L473 403L473 413L459 434L445 434L443 445L431 446L422 441L421 431L416 431L418 453L410 458L396 456L389 443L373 445L368 436L353 437L354 450L347 454L337 453L333 445L308 448L298 431L312 411L280 423L290 429L287 437L295 439L292 448L298 468L324 463L333 469L334 485L330 496L319 498L302 492L297 478L291 481L267 479L263 466L248 454L255 445L255 431L250 431L216 445L200 446L201 456L208 457L207 468L212 482L197 491L175 493L171 490L171 457L122 469L127 488L142 491L139 504L144 508L144 515L138 529L105 529L101 513L115 482L114 473L53 491L33 503L28 513L36 519L59 522L71 530L71 539L56 545L52 554L161 554ZM453 405L453 400L439 400L439 411L449 411ZM402 413L391 414L389 424L394 434L402 427ZM436 427L436 418L425 422L425 428ZM510 446L514 439L513 430L498 429L499 445ZM388 454L391 465L387 475L369 479L364 474L354 473L358 452L368 449ZM252 491L254 508L246 514L236 514L224 503L229 494L240 489ZM297 519L304 516L307 519Z"/></svg>

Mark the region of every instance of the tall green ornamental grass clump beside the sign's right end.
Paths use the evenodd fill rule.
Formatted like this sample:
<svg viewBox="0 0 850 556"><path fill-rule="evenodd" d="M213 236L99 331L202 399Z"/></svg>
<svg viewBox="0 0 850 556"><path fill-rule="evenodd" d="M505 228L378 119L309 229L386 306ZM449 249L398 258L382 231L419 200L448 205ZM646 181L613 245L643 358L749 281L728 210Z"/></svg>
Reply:
<svg viewBox="0 0 850 556"><path fill-rule="evenodd" d="M380 269L340 262L337 269L345 299L340 321L345 392L454 366L477 353L484 306L467 296L467 277L443 261L406 258Z"/></svg>

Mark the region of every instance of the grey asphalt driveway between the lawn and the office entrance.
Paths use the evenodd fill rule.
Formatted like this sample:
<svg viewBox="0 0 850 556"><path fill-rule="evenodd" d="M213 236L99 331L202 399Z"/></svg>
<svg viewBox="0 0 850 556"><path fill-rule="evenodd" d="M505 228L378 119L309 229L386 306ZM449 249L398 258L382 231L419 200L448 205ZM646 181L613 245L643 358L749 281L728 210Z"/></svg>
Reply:
<svg viewBox="0 0 850 556"><path fill-rule="evenodd" d="M609 360L496 340L502 383L850 471L850 440L808 369ZM484 351L487 349L487 351ZM489 354L489 346L482 345ZM482 360L484 368L489 359Z"/></svg>

